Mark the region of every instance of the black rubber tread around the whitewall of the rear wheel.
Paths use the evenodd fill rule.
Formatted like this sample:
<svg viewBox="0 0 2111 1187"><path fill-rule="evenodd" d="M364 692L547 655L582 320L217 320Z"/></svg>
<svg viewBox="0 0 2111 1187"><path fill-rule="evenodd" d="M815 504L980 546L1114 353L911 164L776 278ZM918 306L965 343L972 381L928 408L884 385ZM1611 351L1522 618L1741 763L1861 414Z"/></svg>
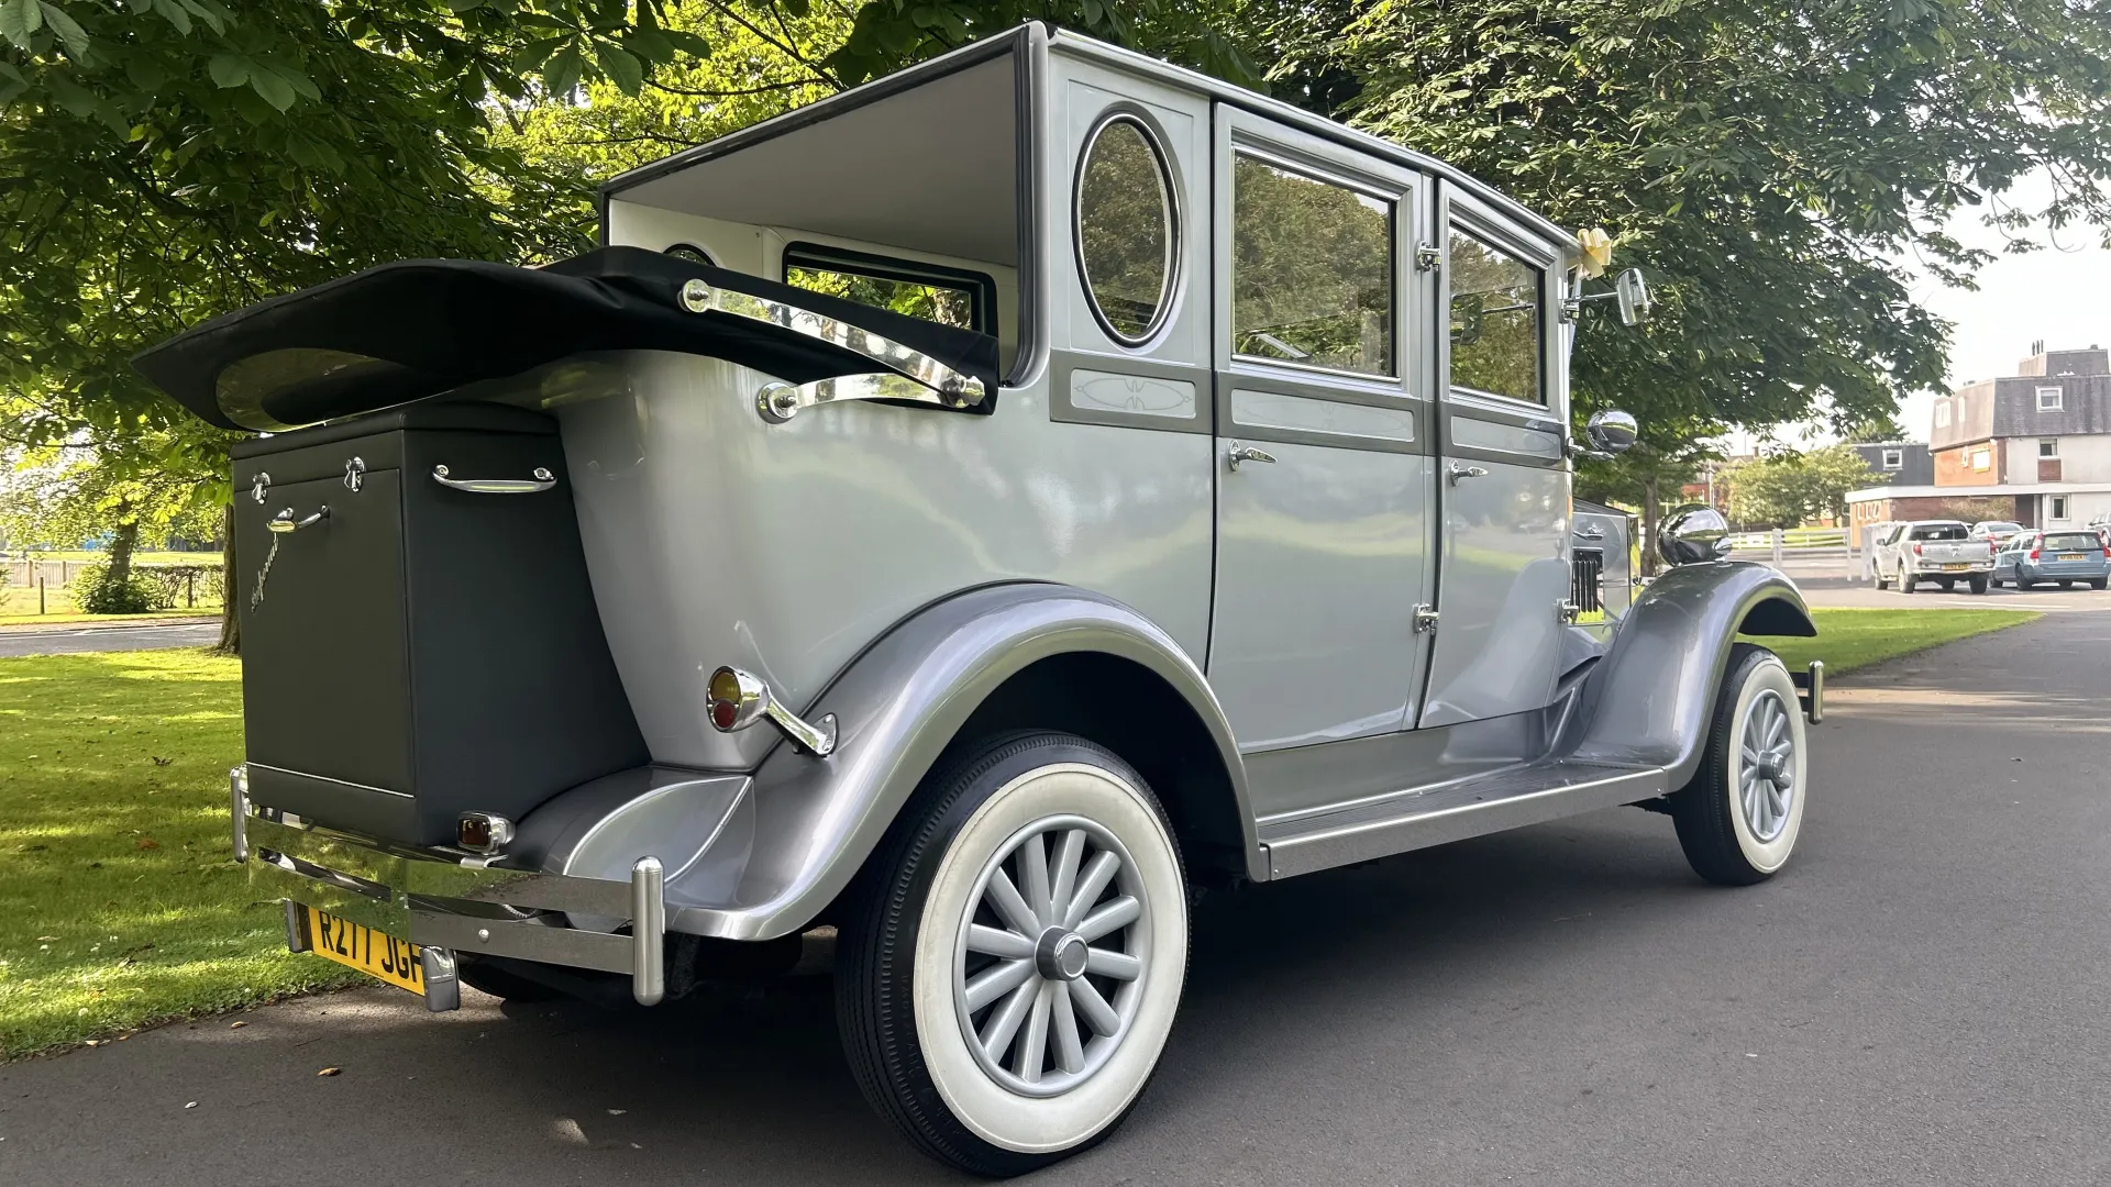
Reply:
<svg viewBox="0 0 2111 1187"><path fill-rule="evenodd" d="M1180 862L1180 843L1165 807L1150 784L1121 756L1068 733L1005 733L982 746L963 748L933 767L859 872L859 887L836 934L836 1026L859 1092L910 1145L937 1162L988 1179L1026 1174L1083 1153L1119 1130L1127 1117L1123 1113L1091 1138L1064 1151L1020 1153L990 1145L946 1107L916 1043L908 965L914 961L916 919L923 915L937 860L967 817L999 788L1049 762L1106 767L1142 792L1165 826L1167 839L1174 841L1174 864L1180 868L1180 885L1186 885L1186 866ZM1142 1100L1148 1088L1146 1081L1136 1100Z"/></svg>

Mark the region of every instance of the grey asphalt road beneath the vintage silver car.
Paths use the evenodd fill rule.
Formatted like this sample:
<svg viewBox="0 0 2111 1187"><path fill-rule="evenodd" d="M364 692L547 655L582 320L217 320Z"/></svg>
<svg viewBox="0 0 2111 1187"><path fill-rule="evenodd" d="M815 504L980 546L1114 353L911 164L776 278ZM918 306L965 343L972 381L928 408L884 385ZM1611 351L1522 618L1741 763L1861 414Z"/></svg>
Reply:
<svg viewBox="0 0 2111 1187"><path fill-rule="evenodd" d="M1843 680L1761 887L1615 809L1205 900L1155 1086L1034 1183L2107 1183L2107 655L2054 615ZM0 1069L0 1181L961 1181L866 1111L825 978L245 1020Z"/></svg>

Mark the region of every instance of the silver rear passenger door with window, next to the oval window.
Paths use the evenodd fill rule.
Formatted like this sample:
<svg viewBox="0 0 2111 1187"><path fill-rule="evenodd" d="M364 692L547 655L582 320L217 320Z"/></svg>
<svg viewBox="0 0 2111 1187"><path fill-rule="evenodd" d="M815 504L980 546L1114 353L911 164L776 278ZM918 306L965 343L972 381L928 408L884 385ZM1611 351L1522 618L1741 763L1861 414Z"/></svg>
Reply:
<svg viewBox="0 0 2111 1187"><path fill-rule="evenodd" d="M1245 112L1216 120L1210 684L1241 750L1397 731L1433 486L1400 285L1423 182Z"/></svg>

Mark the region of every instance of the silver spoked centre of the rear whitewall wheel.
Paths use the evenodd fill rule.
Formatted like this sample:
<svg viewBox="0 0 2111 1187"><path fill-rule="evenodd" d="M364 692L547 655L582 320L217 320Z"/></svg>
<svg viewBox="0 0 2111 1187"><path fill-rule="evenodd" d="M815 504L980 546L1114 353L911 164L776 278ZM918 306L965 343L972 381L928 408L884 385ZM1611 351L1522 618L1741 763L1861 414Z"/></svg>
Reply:
<svg viewBox="0 0 2111 1187"><path fill-rule="evenodd" d="M1150 902L1108 830L1039 819L982 868L961 929L952 997L967 1050L1022 1096L1098 1071L1136 1018Z"/></svg>

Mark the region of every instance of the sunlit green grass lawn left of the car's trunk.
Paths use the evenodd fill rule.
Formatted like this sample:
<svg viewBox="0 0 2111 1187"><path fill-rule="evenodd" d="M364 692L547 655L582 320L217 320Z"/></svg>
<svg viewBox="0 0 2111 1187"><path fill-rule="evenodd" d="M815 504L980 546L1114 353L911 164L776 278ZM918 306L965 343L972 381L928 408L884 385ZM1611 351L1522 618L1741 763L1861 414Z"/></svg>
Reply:
<svg viewBox="0 0 2111 1187"><path fill-rule="evenodd" d="M0 1058L357 980L230 858L241 752L234 659L0 659Z"/></svg>

